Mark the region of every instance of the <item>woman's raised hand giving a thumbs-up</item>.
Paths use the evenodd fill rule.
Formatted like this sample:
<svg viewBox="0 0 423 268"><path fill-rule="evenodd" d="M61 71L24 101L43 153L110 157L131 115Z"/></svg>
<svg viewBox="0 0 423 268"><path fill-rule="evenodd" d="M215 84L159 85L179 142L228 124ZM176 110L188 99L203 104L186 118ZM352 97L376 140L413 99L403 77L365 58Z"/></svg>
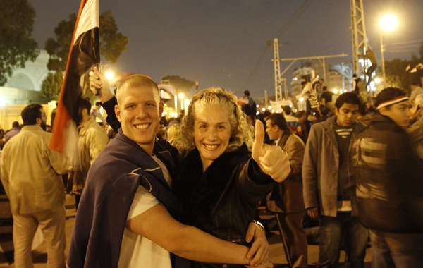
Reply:
<svg viewBox="0 0 423 268"><path fill-rule="evenodd" d="M255 123L255 141L252 144L252 159L260 169L275 181L281 183L290 173L288 154L279 146L264 144L264 126L259 120Z"/></svg>

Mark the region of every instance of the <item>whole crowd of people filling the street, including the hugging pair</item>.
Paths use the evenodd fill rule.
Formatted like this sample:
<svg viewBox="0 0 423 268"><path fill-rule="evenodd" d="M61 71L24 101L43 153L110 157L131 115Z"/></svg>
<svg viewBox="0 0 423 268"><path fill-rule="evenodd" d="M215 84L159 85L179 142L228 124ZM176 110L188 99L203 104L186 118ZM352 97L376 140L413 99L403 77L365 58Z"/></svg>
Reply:
<svg viewBox="0 0 423 268"><path fill-rule="evenodd" d="M341 250L364 267L369 241L372 267L423 267L418 83L410 97L387 87L373 105L303 83L304 111L257 116L250 92L212 87L170 120L145 75L114 95L93 68L90 87L101 102L78 101L76 161L48 149L39 104L23 127L0 130L16 267L32 267L38 226L49 267L273 267L259 202L276 213L292 267L307 267L310 242L317 267L338 267ZM63 186L77 207L67 263Z"/></svg>

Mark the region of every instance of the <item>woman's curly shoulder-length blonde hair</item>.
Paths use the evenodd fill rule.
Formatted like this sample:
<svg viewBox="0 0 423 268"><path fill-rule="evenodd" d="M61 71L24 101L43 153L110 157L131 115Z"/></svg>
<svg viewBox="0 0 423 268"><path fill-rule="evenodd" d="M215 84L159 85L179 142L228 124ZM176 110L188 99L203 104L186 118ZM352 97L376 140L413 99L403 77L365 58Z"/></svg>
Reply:
<svg viewBox="0 0 423 268"><path fill-rule="evenodd" d="M229 139L229 145L226 152L233 152L243 143L251 147L253 142L254 127L248 122L248 118L236 104L237 97L221 87L210 87L197 93L188 106L188 113L182 119L178 138L175 140L175 146L183 154L188 154L195 149L194 141L194 121L195 111L206 105L217 105L226 111L229 122L231 123L232 135Z"/></svg>

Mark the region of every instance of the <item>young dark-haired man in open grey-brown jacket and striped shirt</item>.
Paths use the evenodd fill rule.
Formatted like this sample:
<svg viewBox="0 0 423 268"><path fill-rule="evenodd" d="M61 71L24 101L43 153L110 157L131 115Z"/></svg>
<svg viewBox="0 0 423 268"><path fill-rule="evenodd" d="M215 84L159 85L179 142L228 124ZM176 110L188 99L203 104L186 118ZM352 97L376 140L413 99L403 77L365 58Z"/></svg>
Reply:
<svg viewBox="0 0 423 268"><path fill-rule="evenodd" d="M312 125L302 164L304 201L312 219L320 219L317 267L337 267L341 245L351 267L363 267L369 232L358 220L350 152L365 126L356 123L360 98L347 92L336 99L335 114Z"/></svg>

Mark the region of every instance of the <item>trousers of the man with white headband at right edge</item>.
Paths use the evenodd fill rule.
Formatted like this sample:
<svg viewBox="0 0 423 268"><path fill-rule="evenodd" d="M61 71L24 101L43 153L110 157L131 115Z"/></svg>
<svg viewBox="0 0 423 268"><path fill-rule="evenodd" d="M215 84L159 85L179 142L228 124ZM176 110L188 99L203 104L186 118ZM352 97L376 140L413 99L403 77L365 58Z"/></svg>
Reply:
<svg viewBox="0 0 423 268"><path fill-rule="evenodd" d="M372 267L423 267L423 233L386 233L371 230Z"/></svg>

